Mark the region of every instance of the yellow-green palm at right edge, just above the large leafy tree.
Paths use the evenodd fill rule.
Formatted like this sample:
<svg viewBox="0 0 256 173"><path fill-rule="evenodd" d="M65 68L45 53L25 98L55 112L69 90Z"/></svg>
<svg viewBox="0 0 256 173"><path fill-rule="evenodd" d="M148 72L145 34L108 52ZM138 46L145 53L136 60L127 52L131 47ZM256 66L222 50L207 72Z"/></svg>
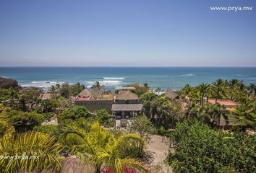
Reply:
<svg viewBox="0 0 256 173"><path fill-rule="evenodd" d="M253 109L245 105L237 108L231 108L230 117L234 117L234 121L238 125L255 125L255 117L253 117Z"/></svg>

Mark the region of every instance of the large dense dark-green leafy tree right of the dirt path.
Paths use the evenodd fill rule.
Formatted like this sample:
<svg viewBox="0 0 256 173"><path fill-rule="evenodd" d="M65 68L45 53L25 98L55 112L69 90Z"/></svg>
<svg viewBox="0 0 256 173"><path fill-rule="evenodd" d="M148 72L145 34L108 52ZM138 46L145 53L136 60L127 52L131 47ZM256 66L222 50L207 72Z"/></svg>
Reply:
<svg viewBox="0 0 256 173"><path fill-rule="evenodd" d="M198 121L186 121L176 126L171 142L175 152L169 159L175 172L256 172L255 136L225 135Z"/></svg>

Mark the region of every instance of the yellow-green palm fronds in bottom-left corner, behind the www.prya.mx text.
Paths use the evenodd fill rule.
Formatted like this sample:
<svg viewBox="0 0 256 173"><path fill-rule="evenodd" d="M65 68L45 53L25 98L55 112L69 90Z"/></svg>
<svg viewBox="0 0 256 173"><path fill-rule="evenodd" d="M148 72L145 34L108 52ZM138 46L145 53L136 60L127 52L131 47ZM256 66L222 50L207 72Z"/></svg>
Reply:
<svg viewBox="0 0 256 173"><path fill-rule="evenodd" d="M0 138L2 172L61 172L61 144L39 132L7 133Z"/></svg>

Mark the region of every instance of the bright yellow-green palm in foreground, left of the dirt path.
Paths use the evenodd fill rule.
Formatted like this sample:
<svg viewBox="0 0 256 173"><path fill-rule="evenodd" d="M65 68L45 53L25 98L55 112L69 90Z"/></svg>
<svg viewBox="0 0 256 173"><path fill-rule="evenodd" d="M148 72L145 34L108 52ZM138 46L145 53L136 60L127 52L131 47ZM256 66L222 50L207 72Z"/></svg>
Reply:
<svg viewBox="0 0 256 173"><path fill-rule="evenodd" d="M125 156L129 148L138 148L142 152L144 141L140 135L129 133L115 138L112 133L101 128L99 123L93 123L89 132L76 126L61 129L61 136L70 147L70 152L90 163L95 173L103 170L103 165L113 172L124 172L125 167L132 167L147 172L137 159Z"/></svg>

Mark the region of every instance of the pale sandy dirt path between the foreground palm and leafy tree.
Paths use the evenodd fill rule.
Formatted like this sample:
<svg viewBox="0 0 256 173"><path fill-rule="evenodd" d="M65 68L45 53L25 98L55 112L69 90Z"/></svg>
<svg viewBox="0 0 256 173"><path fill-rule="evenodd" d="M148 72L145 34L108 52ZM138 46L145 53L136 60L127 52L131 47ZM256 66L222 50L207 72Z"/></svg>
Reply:
<svg viewBox="0 0 256 173"><path fill-rule="evenodd" d="M158 172L171 173L168 167L164 164L164 160L168 154L168 138L154 135L149 143L147 143L148 155L150 156L149 163L158 169Z"/></svg>

